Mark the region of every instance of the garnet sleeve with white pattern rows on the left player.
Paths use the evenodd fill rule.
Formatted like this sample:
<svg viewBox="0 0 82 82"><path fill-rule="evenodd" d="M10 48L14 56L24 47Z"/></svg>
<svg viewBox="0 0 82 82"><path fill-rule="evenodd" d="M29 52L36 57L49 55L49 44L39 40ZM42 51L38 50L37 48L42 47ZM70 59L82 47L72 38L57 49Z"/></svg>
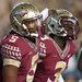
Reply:
<svg viewBox="0 0 82 82"><path fill-rule="evenodd" d="M22 51L21 48L19 47L17 40L19 40L17 36L8 37L7 39L2 40L1 55L10 59L21 61Z"/></svg>

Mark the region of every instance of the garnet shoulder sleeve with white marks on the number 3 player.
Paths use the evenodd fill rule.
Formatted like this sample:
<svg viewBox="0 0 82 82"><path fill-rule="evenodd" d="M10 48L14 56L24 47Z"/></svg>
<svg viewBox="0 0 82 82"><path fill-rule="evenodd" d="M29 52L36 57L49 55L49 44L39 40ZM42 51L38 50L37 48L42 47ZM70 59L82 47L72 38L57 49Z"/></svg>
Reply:
<svg viewBox="0 0 82 82"><path fill-rule="evenodd" d="M40 44L39 44L39 57L47 57L51 54L51 39L49 36L44 35L40 37Z"/></svg>

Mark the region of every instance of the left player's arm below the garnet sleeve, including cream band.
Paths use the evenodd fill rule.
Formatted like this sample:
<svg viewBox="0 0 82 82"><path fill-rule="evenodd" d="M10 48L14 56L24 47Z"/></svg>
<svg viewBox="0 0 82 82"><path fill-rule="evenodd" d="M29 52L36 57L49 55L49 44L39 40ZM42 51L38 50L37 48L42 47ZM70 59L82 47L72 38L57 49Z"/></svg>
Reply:
<svg viewBox="0 0 82 82"><path fill-rule="evenodd" d="M20 61L10 58L3 58L3 82L16 82L19 67Z"/></svg>

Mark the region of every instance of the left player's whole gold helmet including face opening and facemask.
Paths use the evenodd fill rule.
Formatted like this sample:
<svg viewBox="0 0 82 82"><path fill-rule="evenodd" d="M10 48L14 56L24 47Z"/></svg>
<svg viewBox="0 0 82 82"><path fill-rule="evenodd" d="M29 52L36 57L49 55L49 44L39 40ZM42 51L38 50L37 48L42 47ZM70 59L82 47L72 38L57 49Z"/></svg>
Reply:
<svg viewBox="0 0 82 82"><path fill-rule="evenodd" d="M38 37L42 14L37 8L27 2L16 4L10 14L12 28L22 36Z"/></svg>

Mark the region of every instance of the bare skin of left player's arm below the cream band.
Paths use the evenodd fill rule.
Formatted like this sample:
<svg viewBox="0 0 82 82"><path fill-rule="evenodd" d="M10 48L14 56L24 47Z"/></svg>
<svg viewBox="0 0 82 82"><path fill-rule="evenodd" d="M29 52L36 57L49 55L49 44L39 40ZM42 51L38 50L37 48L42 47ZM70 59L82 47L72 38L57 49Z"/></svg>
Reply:
<svg viewBox="0 0 82 82"><path fill-rule="evenodd" d="M17 68L14 66L3 67L3 82L16 82Z"/></svg>

